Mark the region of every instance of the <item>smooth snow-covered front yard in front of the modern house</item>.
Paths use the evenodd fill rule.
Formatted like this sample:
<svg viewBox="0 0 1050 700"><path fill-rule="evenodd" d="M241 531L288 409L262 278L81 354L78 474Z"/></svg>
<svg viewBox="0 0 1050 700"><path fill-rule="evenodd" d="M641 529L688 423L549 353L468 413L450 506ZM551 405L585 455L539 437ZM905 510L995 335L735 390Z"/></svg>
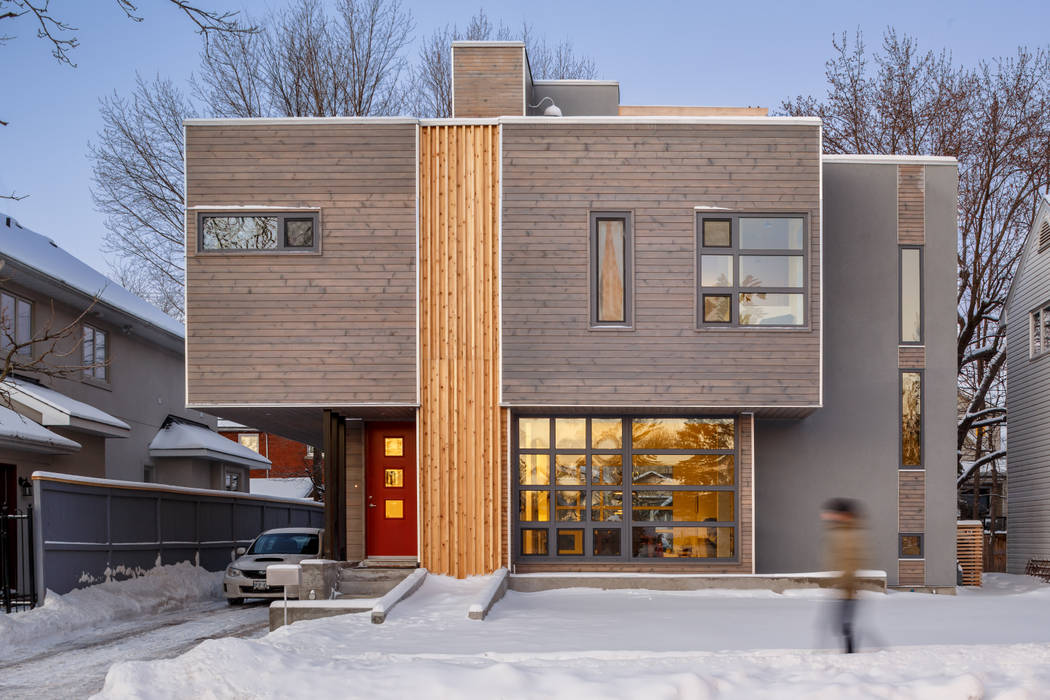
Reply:
<svg viewBox="0 0 1050 700"><path fill-rule="evenodd" d="M102 697L1050 697L1050 586L1033 578L866 596L850 656L831 651L819 591L509 592L468 620L485 584L428 577L381 625L346 615L119 663Z"/></svg>

